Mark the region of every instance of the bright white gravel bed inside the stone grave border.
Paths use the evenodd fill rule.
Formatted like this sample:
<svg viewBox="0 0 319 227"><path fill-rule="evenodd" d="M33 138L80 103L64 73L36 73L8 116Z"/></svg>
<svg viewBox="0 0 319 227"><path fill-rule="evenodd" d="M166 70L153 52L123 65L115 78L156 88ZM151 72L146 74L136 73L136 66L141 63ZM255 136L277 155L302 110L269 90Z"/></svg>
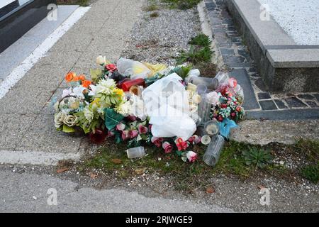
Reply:
<svg viewBox="0 0 319 227"><path fill-rule="evenodd" d="M318 0L258 0L298 45L319 45Z"/></svg>

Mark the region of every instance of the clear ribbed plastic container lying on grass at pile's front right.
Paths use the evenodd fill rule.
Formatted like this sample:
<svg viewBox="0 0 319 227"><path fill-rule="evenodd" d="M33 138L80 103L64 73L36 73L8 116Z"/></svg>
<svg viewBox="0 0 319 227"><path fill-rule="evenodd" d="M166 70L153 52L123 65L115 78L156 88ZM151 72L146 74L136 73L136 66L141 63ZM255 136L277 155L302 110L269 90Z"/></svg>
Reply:
<svg viewBox="0 0 319 227"><path fill-rule="evenodd" d="M210 166L215 166L219 160L220 153L225 145L225 139L221 135L216 135L209 143L206 153L203 155L203 161Z"/></svg>

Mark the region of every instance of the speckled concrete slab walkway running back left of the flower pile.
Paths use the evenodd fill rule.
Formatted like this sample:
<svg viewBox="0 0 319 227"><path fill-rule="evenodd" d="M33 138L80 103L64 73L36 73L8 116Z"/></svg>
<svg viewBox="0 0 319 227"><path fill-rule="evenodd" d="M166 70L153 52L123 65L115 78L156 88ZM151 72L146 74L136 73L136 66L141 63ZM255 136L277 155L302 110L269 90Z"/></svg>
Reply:
<svg viewBox="0 0 319 227"><path fill-rule="evenodd" d="M56 163L78 159L86 138L55 131L52 96L69 71L89 74L98 55L117 60L142 11L143 0L96 1L91 9L0 99L0 162ZM91 147L90 147L91 148ZM54 155L52 155L54 153ZM4 155L6 154L6 155Z"/></svg>

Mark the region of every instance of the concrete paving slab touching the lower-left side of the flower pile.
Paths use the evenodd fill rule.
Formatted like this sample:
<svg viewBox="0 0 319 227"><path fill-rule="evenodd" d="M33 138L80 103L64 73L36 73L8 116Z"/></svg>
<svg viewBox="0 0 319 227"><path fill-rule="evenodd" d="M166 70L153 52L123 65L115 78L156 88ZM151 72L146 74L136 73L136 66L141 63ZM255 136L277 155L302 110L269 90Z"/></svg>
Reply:
<svg viewBox="0 0 319 227"><path fill-rule="evenodd" d="M77 153L82 137L74 137L56 131L51 114L40 114L21 139L16 150L47 153Z"/></svg>

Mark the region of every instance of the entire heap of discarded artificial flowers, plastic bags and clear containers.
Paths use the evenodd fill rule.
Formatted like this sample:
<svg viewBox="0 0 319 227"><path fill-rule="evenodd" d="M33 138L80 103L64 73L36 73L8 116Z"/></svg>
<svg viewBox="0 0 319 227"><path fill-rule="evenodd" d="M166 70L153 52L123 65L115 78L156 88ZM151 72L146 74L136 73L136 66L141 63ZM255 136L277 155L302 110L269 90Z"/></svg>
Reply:
<svg viewBox="0 0 319 227"><path fill-rule="evenodd" d="M129 158L142 157L143 145L153 144L194 162L198 155L191 148L202 143L208 145L203 160L216 165L230 128L245 114L234 78L124 58L115 65L99 56L96 63L101 69L91 70L90 79L65 76L69 89L54 104L58 131L82 132L98 144L109 137L125 141Z"/></svg>

